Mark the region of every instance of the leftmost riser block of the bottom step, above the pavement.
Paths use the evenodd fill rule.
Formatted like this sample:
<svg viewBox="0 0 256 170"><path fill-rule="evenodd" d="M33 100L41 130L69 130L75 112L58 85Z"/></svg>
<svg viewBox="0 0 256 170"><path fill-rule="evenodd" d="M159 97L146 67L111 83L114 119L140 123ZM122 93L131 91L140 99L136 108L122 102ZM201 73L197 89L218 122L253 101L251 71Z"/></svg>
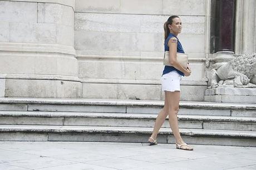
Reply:
<svg viewBox="0 0 256 170"><path fill-rule="evenodd" d="M1 132L0 141L48 141L44 133Z"/></svg>

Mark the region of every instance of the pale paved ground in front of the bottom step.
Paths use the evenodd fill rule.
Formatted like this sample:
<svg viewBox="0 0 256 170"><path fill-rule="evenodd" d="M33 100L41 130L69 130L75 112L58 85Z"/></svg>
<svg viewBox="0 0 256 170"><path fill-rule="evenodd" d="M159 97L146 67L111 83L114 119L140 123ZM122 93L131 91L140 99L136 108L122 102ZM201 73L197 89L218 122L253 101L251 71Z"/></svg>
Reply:
<svg viewBox="0 0 256 170"><path fill-rule="evenodd" d="M0 169L256 169L256 147L0 142Z"/></svg>

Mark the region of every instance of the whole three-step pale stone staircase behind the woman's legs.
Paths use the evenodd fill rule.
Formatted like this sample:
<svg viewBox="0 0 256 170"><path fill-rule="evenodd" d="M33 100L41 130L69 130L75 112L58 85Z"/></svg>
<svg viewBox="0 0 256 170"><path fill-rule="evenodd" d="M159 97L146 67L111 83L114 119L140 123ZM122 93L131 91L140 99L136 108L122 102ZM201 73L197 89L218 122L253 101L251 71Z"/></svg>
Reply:
<svg viewBox="0 0 256 170"><path fill-rule="evenodd" d="M0 141L147 142L163 101L0 99ZM180 102L190 144L256 146L256 105ZM174 143L168 119L157 136Z"/></svg>

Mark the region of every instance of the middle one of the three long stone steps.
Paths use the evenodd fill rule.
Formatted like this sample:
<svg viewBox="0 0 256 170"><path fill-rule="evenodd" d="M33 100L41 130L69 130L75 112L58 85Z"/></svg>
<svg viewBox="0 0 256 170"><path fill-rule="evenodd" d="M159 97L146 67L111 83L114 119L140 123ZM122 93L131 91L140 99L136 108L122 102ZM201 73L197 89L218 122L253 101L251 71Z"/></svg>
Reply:
<svg viewBox="0 0 256 170"><path fill-rule="evenodd" d="M156 114L0 111L0 125L154 127ZM180 128L256 131L255 117L178 115ZM170 127L166 119L163 127Z"/></svg>

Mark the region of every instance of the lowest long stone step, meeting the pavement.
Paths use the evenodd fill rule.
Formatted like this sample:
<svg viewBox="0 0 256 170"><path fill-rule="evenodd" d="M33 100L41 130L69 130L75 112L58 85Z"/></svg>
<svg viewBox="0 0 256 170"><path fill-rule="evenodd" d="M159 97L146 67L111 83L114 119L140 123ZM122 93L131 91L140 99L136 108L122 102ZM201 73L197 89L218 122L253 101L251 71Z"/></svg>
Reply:
<svg viewBox="0 0 256 170"><path fill-rule="evenodd" d="M0 141L147 142L152 127L0 125ZM256 146L253 131L180 128L190 144ZM174 143L170 128L161 128L159 143Z"/></svg>

